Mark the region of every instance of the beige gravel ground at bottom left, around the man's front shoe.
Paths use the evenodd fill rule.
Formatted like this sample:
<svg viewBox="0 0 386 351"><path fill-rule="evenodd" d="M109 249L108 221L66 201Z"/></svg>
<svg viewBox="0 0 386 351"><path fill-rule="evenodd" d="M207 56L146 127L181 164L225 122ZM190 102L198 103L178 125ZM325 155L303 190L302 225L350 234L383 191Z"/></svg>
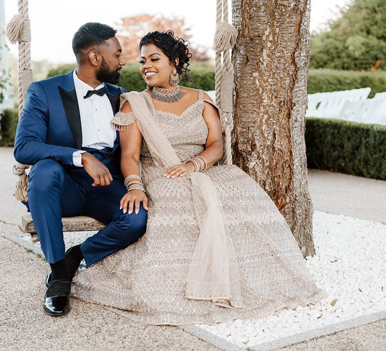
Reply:
<svg viewBox="0 0 386 351"><path fill-rule="evenodd" d="M2 234L10 231L15 227L0 224ZM80 300L66 316L47 316L47 263L3 237L0 246L0 349L217 349L179 328L137 323Z"/></svg>

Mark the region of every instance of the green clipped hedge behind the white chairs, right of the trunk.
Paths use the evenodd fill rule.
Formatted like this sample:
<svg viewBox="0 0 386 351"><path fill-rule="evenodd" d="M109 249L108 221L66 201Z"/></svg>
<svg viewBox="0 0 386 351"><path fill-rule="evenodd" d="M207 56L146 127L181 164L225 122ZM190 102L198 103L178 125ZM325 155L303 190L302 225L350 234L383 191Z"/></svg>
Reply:
<svg viewBox="0 0 386 351"><path fill-rule="evenodd" d="M307 85L309 94L366 87L371 88L369 98L372 98L375 93L386 91L386 72L309 70Z"/></svg>

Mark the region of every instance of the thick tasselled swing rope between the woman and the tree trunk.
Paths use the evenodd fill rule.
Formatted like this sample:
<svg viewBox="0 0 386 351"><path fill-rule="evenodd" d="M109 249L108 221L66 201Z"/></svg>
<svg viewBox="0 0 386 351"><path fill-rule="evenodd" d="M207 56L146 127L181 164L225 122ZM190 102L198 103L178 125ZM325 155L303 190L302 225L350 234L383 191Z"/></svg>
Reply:
<svg viewBox="0 0 386 351"><path fill-rule="evenodd" d="M215 58L216 104L221 109L224 133L222 164L232 164L234 71L230 50L236 43L236 29L228 23L228 0L217 0Z"/></svg>

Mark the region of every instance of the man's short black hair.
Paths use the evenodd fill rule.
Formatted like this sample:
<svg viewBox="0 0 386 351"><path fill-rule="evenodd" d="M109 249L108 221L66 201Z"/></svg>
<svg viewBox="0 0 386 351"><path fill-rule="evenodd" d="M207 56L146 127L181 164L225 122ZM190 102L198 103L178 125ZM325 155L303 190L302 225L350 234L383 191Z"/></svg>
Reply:
<svg viewBox="0 0 386 351"><path fill-rule="evenodd" d="M117 31L98 22L88 22L81 26L72 38L72 51L78 57L82 51L93 45L104 44L106 40L115 37Z"/></svg>

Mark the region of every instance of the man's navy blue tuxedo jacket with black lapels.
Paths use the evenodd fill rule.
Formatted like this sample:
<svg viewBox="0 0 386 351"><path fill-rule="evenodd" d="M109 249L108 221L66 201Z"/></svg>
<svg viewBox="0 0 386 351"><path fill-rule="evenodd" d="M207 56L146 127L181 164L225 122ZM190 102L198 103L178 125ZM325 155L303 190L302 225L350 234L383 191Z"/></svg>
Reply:
<svg viewBox="0 0 386 351"><path fill-rule="evenodd" d="M72 154L82 149L82 129L73 71L30 85L15 137L15 159L23 164L51 158L72 165ZM124 89L104 83L114 114ZM92 151L86 149L87 151ZM119 155L119 135L105 157Z"/></svg>

